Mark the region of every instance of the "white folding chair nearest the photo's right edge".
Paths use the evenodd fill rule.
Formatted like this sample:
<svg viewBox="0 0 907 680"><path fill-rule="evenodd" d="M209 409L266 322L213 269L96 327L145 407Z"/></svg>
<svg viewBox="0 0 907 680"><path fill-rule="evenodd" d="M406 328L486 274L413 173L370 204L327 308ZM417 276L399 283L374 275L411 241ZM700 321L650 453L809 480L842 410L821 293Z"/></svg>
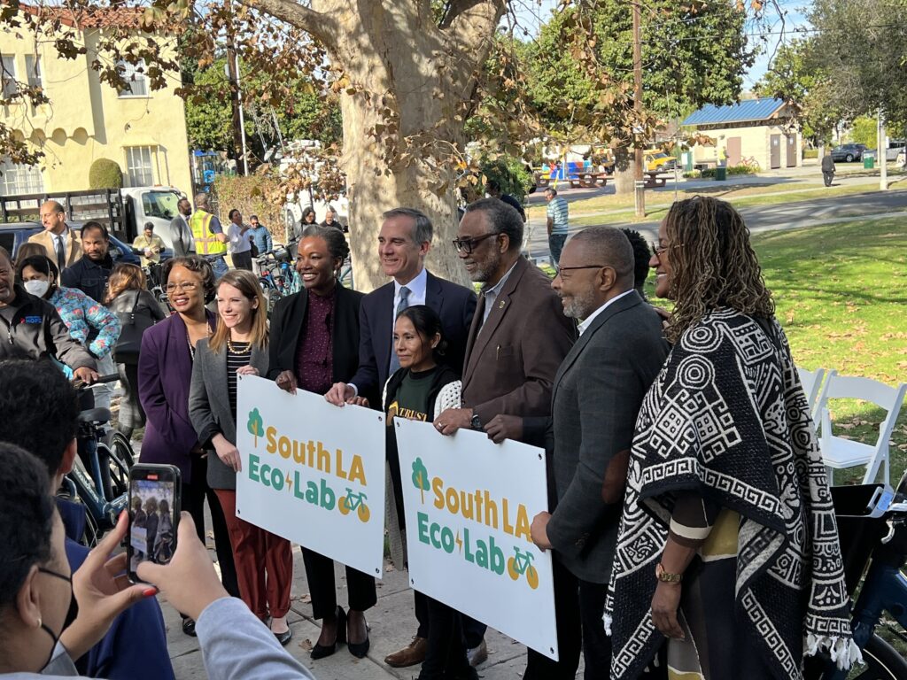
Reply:
<svg viewBox="0 0 907 680"><path fill-rule="evenodd" d="M884 470L885 484L891 483L888 441L892 436L898 413L901 411L905 392L907 392L907 384L904 383L891 387L869 378L838 375L835 372L828 375L822 396L819 398L817 411L821 427L819 446L822 449L824 463L828 468L830 485L833 481L834 470L844 470L844 468L860 465L866 466L863 484L873 483L881 466ZM874 444L863 444L834 436L832 419L828 411L829 399L860 399L884 409L887 415L879 425L878 440Z"/></svg>

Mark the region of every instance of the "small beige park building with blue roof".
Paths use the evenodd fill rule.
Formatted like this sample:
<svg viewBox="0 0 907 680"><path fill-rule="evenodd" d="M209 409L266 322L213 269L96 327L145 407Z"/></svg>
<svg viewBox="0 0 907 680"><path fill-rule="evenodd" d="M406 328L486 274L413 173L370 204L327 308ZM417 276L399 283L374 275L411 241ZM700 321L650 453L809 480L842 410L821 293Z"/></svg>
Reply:
<svg viewBox="0 0 907 680"><path fill-rule="evenodd" d="M713 144L693 147L693 162L714 167L727 151L727 164L753 159L762 170L795 168L801 161L801 135L783 100L764 97L730 106L707 105L680 123L707 136Z"/></svg>

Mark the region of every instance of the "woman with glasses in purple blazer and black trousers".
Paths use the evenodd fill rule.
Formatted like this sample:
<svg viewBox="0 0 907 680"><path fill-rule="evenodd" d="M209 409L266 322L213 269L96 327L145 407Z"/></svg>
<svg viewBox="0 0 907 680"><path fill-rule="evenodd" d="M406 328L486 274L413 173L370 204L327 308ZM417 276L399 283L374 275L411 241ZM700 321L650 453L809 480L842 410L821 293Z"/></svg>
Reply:
<svg viewBox="0 0 907 680"><path fill-rule="evenodd" d="M192 515L205 542L205 498L211 512L220 578L239 597L227 522L217 495L208 486L208 461L189 418L189 388L195 345L214 330L216 316L205 309L214 296L214 271L201 257L168 260L163 286L176 314L151 326L141 337L139 398L148 417L141 442L141 462L176 465L182 475L182 510ZM184 618L183 632L195 635L195 622Z"/></svg>

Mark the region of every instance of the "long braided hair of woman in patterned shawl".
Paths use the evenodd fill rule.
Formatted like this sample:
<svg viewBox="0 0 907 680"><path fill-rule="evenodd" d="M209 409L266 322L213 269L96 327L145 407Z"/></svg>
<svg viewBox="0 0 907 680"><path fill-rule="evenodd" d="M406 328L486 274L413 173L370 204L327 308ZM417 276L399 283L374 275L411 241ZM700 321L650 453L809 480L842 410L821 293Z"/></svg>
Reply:
<svg viewBox="0 0 907 680"><path fill-rule="evenodd" d="M670 297L674 314L668 342L676 343L689 327L717 307L747 316L775 316L749 229L727 201L706 196L679 200L668 210L665 231L670 244Z"/></svg>

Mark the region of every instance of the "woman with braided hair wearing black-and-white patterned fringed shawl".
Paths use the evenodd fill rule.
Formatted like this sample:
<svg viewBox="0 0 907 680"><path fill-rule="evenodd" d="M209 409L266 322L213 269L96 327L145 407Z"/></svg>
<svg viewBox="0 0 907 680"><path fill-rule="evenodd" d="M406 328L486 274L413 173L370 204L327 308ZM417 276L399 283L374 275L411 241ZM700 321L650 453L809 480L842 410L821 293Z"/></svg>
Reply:
<svg viewBox="0 0 907 680"><path fill-rule="evenodd" d="M679 201L649 264L674 346L636 424L611 678L639 676L666 636L672 680L799 679L820 650L846 668L860 653L831 495L743 219Z"/></svg>

